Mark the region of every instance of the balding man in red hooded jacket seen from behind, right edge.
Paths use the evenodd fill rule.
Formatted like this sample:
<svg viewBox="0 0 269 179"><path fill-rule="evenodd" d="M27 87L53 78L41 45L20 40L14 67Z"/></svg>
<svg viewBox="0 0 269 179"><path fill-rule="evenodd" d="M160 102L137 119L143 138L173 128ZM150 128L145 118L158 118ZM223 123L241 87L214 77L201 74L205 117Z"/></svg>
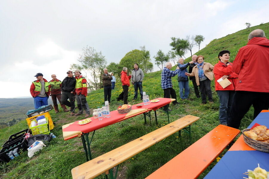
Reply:
<svg viewBox="0 0 269 179"><path fill-rule="evenodd" d="M239 128L251 105L254 116L269 108L269 40L263 30L253 30L248 44L239 49L233 71L239 74L228 126Z"/></svg>

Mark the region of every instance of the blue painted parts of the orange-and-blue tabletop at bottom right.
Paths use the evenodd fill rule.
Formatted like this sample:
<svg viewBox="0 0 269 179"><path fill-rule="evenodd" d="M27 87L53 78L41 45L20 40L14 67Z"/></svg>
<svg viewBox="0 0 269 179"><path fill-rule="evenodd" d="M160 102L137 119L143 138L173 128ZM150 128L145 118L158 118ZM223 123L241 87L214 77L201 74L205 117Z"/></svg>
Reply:
<svg viewBox="0 0 269 179"><path fill-rule="evenodd" d="M255 123L269 126L269 112L261 112L248 126L251 128ZM256 150L228 151L204 179L242 179L247 178L244 172L258 167L269 171L269 153Z"/></svg>

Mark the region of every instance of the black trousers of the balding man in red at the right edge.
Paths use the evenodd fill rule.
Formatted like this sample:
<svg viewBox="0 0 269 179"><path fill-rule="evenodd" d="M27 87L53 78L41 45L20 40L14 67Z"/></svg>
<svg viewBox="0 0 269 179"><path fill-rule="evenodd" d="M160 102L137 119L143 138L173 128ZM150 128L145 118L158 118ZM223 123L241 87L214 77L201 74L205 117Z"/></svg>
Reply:
<svg viewBox="0 0 269 179"><path fill-rule="evenodd" d="M269 92L236 91L227 124L238 129L242 118L250 106L254 107L253 119L263 110L269 108Z"/></svg>

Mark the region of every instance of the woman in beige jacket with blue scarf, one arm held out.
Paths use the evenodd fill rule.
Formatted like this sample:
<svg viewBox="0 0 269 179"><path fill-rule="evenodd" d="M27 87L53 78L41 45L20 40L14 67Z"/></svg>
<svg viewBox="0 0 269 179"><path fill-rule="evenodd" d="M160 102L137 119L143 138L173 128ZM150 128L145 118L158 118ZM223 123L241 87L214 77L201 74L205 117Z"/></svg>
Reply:
<svg viewBox="0 0 269 179"><path fill-rule="evenodd" d="M200 88L202 104L206 104L205 92L207 93L208 101L213 103L210 84L214 78L214 74L212 72L214 67L210 63L204 62L204 59L203 55L198 55L196 58L196 62L198 62L198 64L193 67L192 72L185 72L185 75L187 76L195 76L196 84Z"/></svg>

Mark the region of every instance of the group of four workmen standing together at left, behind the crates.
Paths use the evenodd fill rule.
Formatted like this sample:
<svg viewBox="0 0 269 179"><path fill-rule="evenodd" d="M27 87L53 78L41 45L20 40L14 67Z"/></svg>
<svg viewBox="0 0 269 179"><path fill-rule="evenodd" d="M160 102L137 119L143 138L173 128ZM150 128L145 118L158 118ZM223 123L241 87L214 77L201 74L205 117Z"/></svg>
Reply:
<svg viewBox="0 0 269 179"><path fill-rule="evenodd" d="M83 114L85 110L85 118L90 116L89 105L86 101L87 97L87 80L81 75L80 70L75 70L75 77L72 71L67 71L67 77L63 81L56 78L56 75L51 75L52 80L47 81L43 78L42 73L35 75L36 81L33 81L30 87L30 93L34 98L35 108L48 105L48 98L51 96L55 112L59 112L57 99L61 104L64 112L69 112L71 116ZM68 101L69 99L69 101ZM75 100L79 111L75 113ZM70 110L66 108L70 107Z"/></svg>

